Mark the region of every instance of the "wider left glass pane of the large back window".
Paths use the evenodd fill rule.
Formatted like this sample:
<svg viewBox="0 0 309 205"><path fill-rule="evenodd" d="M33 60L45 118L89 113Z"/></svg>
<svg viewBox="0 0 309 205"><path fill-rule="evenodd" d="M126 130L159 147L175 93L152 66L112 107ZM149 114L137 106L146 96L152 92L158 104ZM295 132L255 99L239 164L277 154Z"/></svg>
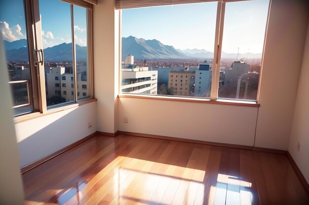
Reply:
<svg viewBox="0 0 309 205"><path fill-rule="evenodd" d="M122 10L120 92L210 97L217 2Z"/></svg>

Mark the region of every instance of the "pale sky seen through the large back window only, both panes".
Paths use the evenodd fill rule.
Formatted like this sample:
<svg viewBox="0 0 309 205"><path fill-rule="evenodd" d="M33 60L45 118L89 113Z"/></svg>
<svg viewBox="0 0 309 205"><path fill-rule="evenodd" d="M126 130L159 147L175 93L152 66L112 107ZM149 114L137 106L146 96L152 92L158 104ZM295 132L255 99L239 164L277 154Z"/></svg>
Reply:
<svg viewBox="0 0 309 205"><path fill-rule="evenodd" d="M222 50L262 53L269 0L226 4ZM157 39L177 49L214 51L217 2L122 10L122 37Z"/></svg>

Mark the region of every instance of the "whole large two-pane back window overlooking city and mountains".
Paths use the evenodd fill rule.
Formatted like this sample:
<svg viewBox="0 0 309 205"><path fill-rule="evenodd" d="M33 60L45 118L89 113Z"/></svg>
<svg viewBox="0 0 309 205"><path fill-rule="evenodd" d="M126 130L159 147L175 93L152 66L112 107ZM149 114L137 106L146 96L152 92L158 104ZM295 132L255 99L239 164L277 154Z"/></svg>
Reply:
<svg viewBox="0 0 309 205"><path fill-rule="evenodd" d="M116 0L120 92L257 100L269 0L130 2Z"/></svg>

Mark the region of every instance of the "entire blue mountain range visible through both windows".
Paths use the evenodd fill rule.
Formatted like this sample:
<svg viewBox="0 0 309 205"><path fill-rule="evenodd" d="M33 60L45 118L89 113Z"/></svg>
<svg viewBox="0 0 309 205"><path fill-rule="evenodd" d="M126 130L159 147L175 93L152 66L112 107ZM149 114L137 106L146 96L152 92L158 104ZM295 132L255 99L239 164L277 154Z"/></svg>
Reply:
<svg viewBox="0 0 309 205"><path fill-rule="evenodd" d="M6 58L10 61L29 61L27 40L21 39L13 42L3 40L6 51ZM212 59L213 52L204 49L175 49L173 46L162 44L160 41L145 40L134 36L122 37L122 60L127 55L134 56L135 59ZM77 61L86 61L87 47L76 45ZM261 54L239 54L238 59L259 59ZM221 58L237 59L237 54L222 52ZM45 61L71 61L72 43L62 43L44 49Z"/></svg>

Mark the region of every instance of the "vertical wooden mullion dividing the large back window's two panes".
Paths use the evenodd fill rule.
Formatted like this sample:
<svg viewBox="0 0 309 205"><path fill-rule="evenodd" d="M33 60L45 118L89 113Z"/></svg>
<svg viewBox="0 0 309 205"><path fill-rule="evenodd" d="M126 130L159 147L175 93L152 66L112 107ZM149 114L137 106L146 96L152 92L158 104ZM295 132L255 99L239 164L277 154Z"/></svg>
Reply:
<svg viewBox="0 0 309 205"><path fill-rule="evenodd" d="M225 15L225 2L218 2L214 63L211 78L211 93L210 93L211 100L217 100L218 98L224 15Z"/></svg>

